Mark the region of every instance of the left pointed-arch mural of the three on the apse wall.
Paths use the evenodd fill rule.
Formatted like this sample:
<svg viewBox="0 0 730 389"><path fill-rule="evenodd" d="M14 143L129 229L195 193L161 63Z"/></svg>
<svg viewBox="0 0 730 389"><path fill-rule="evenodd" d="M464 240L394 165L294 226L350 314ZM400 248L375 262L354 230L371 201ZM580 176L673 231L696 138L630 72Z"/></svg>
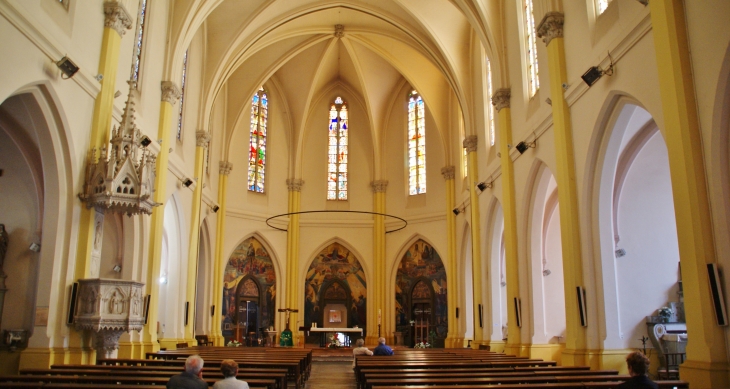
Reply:
<svg viewBox="0 0 730 389"><path fill-rule="evenodd" d="M275 303L274 264L261 242L248 238L233 251L223 274L223 336L239 337L237 329L246 334L273 326Z"/></svg>

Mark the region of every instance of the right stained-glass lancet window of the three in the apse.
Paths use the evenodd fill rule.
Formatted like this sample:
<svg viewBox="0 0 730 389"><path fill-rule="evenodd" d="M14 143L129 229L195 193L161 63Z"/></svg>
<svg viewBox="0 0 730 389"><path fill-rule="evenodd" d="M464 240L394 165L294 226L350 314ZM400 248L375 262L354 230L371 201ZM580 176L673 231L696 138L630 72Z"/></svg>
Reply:
<svg viewBox="0 0 730 389"><path fill-rule="evenodd" d="M408 189L426 193L426 105L415 90L408 94Z"/></svg>

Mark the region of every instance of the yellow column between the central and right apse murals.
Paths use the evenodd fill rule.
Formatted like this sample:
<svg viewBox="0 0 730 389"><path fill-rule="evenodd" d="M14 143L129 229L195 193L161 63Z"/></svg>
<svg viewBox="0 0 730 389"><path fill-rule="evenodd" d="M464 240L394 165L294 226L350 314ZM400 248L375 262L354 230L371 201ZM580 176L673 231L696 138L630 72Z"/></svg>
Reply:
<svg viewBox="0 0 730 389"><path fill-rule="evenodd" d="M385 213L385 190L388 187L387 180L376 180L370 184L373 190L373 212ZM387 342L392 344L393 333L386 333L386 328L391 329L391 315L389 315L386 307L386 271L385 271L385 216L375 215L373 217L373 270L374 279L368 284L368 289L372 288L375 293L375 304L372 306L371 316L375 317L374 325L368 326L369 335L367 337L368 344L376 344L377 338L382 336ZM380 325L380 331L378 331ZM378 334L378 332L380 332Z"/></svg>

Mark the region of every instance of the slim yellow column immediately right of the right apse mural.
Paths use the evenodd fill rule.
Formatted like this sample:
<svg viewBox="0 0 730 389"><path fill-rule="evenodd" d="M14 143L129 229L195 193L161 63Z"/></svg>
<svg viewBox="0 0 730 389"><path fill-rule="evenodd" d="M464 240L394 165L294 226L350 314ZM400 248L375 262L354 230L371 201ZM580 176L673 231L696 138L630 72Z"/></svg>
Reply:
<svg viewBox="0 0 730 389"><path fill-rule="evenodd" d="M453 210L456 206L456 194L454 189L454 166L441 168L441 175L446 181L446 306L448 309L449 331L446 335L447 348L464 347L464 337L459 336L459 326L456 319L457 288L459 278L456 274L456 215Z"/></svg>

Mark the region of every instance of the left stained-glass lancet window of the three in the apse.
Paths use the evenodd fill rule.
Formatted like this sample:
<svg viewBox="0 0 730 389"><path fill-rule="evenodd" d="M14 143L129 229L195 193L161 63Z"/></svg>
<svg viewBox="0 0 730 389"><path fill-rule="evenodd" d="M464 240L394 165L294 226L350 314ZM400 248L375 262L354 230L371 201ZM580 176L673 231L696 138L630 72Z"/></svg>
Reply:
<svg viewBox="0 0 730 389"><path fill-rule="evenodd" d="M264 87L251 99L251 131L248 137L248 190L264 192L266 168L266 124L269 100Z"/></svg>

